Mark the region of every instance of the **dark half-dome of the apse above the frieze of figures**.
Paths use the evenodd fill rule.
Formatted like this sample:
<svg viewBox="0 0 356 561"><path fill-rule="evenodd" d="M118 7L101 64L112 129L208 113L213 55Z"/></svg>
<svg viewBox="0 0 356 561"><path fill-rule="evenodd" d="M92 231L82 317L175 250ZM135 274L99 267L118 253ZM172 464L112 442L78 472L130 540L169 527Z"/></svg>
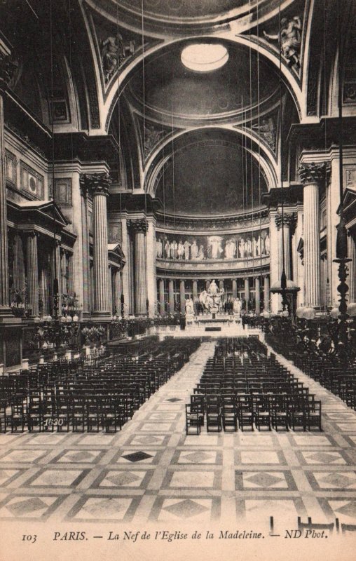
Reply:
<svg viewBox="0 0 356 561"><path fill-rule="evenodd" d="M266 179L239 135L211 129L179 140L158 179L164 212L221 215L259 208Z"/></svg>

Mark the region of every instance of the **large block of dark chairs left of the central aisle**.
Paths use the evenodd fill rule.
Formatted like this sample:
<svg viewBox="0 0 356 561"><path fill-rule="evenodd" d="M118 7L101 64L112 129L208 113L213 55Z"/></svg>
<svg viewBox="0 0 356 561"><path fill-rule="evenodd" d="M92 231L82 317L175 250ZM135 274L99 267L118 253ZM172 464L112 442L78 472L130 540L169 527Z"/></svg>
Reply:
<svg viewBox="0 0 356 561"><path fill-rule="evenodd" d="M121 428L177 372L199 339L153 342L139 358L114 353L93 364L48 363L0 378L0 430Z"/></svg>

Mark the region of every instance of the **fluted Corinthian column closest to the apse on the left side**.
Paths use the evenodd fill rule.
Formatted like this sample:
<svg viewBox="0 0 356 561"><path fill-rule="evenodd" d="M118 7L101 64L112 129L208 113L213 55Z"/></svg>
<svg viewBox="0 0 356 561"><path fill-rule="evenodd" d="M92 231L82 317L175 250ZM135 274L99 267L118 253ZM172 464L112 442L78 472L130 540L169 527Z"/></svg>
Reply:
<svg viewBox="0 0 356 561"><path fill-rule="evenodd" d="M144 219L128 220L128 227L134 236L135 259L135 315L146 315L146 231Z"/></svg>

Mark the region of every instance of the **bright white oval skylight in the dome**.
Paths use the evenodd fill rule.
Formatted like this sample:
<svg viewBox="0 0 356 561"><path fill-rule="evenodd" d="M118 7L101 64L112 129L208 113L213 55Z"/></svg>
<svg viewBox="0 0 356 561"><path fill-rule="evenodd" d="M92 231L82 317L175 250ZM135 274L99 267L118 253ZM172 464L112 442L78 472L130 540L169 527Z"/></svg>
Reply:
<svg viewBox="0 0 356 561"><path fill-rule="evenodd" d="M228 61L228 50L219 43L195 43L182 50L181 60L195 72L217 70Z"/></svg>

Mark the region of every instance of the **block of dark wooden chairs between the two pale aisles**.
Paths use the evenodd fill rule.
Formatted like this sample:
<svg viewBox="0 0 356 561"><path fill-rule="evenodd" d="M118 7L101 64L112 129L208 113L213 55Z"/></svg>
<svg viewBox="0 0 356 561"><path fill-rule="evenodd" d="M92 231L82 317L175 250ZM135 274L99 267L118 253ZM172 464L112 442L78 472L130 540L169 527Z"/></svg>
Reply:
<svg viewBox="0 0 356 561"><path fill-rule="evenodd" d="M221 339L190 403L186 433L279 428L322 430L322 405L294 375L267 356L259 339Z"/></svg>

